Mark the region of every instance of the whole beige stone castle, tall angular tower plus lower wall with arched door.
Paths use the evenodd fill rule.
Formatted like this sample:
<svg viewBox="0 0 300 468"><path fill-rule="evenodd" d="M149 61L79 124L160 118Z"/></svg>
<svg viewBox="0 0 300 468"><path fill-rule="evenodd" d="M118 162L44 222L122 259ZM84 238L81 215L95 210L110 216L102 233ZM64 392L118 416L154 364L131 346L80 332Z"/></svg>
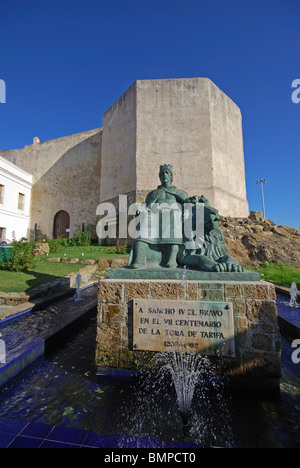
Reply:
<svg viewBox="0 0 300 468"><path fill-rule="evenodd" d="M223 216L247 217L241 113L207 78L136 81L105 113L103 128L0 155L33 175L30 232L53 236L70 215L70 236L93 233L100 202L144 201L172 164L174 185L205 195Z"/></svg>

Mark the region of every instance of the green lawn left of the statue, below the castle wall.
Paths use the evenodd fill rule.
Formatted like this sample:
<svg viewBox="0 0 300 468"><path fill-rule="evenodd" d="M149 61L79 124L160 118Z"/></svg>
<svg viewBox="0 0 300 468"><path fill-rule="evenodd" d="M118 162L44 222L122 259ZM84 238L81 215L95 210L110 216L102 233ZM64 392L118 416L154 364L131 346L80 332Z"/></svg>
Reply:
<svg viewBox="0 0 300 468"><path fill-rule="evenodd" d="M76 272L86 265L81 263L52 263L49 257L67 257L99 260L100 258L124 258L124 254L116 253L113 247L89 246L89 247L60 247L57 252L48 256L39 255L36 266L27 272L15 272L0 270L0 291L22 292L33 289L40 284L48 283L61 278L71 272Z"/></svg>

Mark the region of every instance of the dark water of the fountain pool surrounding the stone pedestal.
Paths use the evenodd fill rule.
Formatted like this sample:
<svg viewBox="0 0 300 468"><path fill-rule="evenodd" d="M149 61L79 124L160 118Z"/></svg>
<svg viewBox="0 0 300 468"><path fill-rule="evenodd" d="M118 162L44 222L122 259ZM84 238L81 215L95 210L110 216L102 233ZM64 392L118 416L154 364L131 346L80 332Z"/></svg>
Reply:
<svg viewBox="0 0 300 468"><path fill-rule="evenodd" d="M82 296L84 304L89 302L85 293ZM60 307L62 316L71 307L69 299L63 302ZM78 305L74 304L73 309L77 308ZM290 309L288 303L285 308ZM44 330L52 320L52 307L46 321L45 312L34 317L28 315L11 323L9 328L16 331L28 329L28 333L31 330L36 334L37 319L41 321L40 330ZM64 426L66 431L67 428L92 431L95 443L99 443L97 447L103 448L128 448L133 447L133 443L139 444L138 447L165 450L171 446L178 447L176 444L185 448L192 444L299 448L299 364L293 364L291 346L283 337L280 393L268 397L264 392L251 392L249 388L238 392L225 388L223 378L216 375L215 367L205 357L201 361L197 355L202 372L195 385L187 424L184 425L178 410L180 407L189 408L189 405L181 405L181 401L188 401L188 398L177 399L171 372L164 368L172 361L174 350L154 356L154 361L158 360L155 375L148 369L122 377L118 377L117 372L114 376L97 376L94 365L95 318L96 312L78 334L72 332L62 346L53 348L45 358L37 360L19 377L0 388L0 422L1 418L7 418L15 420L16 424L25 421L39 426ZM30 323L26 324L28 320ZM2 331L5 336L5 329ZM178 352L182 351L179 349ZM192 353L185 351L177 355L175 367L178 359L191 359L188 354ZM189 367L183 361L178 365L184 369ZM4 444L1 434L0 441Z"/></svg>

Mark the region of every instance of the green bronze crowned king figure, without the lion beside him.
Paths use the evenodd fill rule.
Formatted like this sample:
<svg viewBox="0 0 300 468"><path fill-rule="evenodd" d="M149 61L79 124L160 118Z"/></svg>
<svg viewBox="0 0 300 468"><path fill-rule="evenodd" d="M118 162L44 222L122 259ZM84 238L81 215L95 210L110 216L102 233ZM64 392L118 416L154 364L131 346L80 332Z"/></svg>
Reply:
<svg viewBox="0 0 300 468"><path fill-rule="evenodd" d="M148 193L137 211L138 235L135 238L129 268L145 266L177 267L177 255L183 245L181 205L188 198L173 182L172 166L160 166L161 185Z"/></svg>

